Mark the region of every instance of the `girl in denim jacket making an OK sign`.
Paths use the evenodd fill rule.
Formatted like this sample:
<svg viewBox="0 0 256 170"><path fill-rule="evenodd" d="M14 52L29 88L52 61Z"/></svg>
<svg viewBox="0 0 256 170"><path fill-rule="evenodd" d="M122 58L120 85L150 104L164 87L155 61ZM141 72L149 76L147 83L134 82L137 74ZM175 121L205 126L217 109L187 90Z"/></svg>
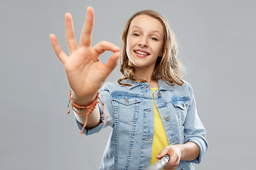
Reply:
<svg viewBox="0 0 256 170"><path fill-rule="evenodd" d="M208 148L193 90L181 79L177 45L169 23L155 11L139 11L122 33L121 52L102 41L91 46L94 12L87 8L78 44L70 13L65 29L70 56L55 35L55 54L70 84L71 106L85 135L110 126L100 169L146 169L169 154L164 169L194 169ZM100 55L113 54L105 64ZM123 78L105 82L121 54ZM90 114L89 114L90 113Z"/></svg>

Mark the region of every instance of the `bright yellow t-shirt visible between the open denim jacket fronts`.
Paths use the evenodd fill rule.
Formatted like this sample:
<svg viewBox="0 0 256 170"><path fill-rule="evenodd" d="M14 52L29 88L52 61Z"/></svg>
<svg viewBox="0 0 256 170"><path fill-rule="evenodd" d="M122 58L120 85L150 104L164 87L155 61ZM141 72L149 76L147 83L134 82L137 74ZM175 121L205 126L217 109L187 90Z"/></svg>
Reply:
<svg viewBox="0 0 256 170"><path fill-rule="evenodd" d="M158 91L158 87L151 88L154 100L154 91ZM164 130L164 125L161 121L159 111L156 108L156 103L154 102L154 138L152 145L152 154L151 154L151 165L156 163L159 159L156 159L156 156L161 152L161 150L169 146L169 142L166 137L166 132Z"/></svg>

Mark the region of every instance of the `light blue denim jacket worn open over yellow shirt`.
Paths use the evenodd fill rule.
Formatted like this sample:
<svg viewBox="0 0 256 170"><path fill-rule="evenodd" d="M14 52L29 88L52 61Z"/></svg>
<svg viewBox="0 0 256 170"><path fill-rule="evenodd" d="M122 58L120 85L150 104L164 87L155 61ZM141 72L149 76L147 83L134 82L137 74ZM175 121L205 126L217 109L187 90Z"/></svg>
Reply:
<svg viewBox="0 0 256 170"><path fill-rule="evenodd" d="M102 157L100 169L146 169L151 162L151 149L154 137L154 103L148 83L126 79L122 86L117 82L107 82L100 89L107 114L107 123L99 104L101 123L91 130L84 130L85 135L100 132L110 126L112 133ZM193 163L199 164L208 148L205 139L206 130L196 111L193 90L185 81L183 86L169 86L159 80L159 90L154 91L154 100L159 110L166 131L169 145L196 143L200 148L197 159L181 161L178 169L194 169ZM78 121L77 121L78 123ZM78 123L80 130L82 125Z"/></svg>

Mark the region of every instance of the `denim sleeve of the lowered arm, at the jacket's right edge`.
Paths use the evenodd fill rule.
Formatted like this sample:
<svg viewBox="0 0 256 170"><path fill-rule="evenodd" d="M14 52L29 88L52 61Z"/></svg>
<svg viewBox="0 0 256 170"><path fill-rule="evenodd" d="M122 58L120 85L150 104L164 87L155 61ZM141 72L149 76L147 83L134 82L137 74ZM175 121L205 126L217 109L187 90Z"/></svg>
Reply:
<svg viewBox="0 0 256 170"><path fill-rule="evenodd" d="M200 154L197 159L193 160L193 163L199 164L208 149L208 142L206 141L206 129L203 127L203 123L198 117L196 110L196 101L193 96L193 89L188 84L188 91L191 96L191 105L188 107L184 126L184 143L194 142L200 148Z"/></svg>

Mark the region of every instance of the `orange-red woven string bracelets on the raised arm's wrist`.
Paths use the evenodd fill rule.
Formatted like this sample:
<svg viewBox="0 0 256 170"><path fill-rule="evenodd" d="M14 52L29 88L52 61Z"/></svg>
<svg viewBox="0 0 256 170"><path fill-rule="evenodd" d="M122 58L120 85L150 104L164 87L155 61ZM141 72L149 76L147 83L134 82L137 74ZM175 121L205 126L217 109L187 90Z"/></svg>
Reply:
<svg viewBox="0 0 256 170"><path fill-rule="evenodd" d="M77 103L75 103L75 102L73 101L73 98L71 97L71 91L70 91L70 96L69 96L70 100L69 100L69 102L68 102L69 110L68 110L68 113L67 113L67 114L70 113L70 108L71 108L71 107L72 107L73 111L75 111L74 108L76 108L76 109L78 109L78 110L87 109L87 112L84 113L84 114L81 114L81 113L78 113L77 111L75 111L75 113L77 113L78 115L86 116L86 117L85 117L85 123L84 123L84 125L83 125L83 127L82 127L82 130L81 130L81 132L80 132L80 135L82 135L82 131L85 129L85 126L86 126L86 124L87 124L88 115L89 115L90 113L92 113L92 111L95 109L97 103L101 103L101 104L102 104L102 110L103 110L103 115L104 115L104 123L103 123L103 124L104 124L104 125L106 124L106 114L105 114L105 109L104 109L104 103L100 100L99 94L100 94L100 92L97 93L97 96L95 97L95 100L92 101L92 103L90 103L89 105L87 105L87 106L80 106L80 105L78 105ZM102 98L102 94L100 94L100 95L101 95L101 98ZM97 100L98 98L99 98L99 101ZM71 102L71 104L70 104L70 102Z"/></svg>

